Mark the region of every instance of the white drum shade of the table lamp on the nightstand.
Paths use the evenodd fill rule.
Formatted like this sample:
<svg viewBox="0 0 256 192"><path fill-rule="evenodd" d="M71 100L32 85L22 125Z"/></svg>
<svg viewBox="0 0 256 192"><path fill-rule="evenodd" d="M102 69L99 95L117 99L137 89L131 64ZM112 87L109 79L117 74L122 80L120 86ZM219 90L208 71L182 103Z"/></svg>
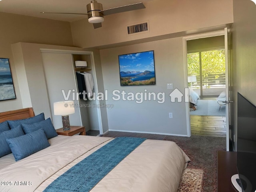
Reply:
<svg viewBox="0 0 256 192"><path fill-rule="evenodd" d="M75 113L74 101L59 101L53 103L54 115L69 115Z"/></svg>

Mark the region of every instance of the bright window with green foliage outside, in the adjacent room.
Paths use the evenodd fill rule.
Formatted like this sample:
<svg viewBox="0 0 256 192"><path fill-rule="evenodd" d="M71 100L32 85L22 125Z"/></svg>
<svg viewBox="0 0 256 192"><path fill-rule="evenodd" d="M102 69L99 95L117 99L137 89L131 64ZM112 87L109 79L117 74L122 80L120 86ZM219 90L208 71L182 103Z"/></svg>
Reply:
<svg viewBox="0 0 256 192"><path fill-rule="evenodd" d="M224 49L188 53L188 76L196 76L191 88L200 97L218 96L226 87Z"/></svg>

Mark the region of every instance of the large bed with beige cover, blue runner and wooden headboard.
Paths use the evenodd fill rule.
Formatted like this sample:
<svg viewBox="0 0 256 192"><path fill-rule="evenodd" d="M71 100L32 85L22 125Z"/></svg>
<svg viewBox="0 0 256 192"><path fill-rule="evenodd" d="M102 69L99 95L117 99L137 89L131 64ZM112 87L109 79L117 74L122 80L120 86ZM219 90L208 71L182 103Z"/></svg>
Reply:
<svg viewBox="0 0 256 192"><path fill-rule="evenodd" d="M0 113L0 131L2 124L6 123L6 120L33 119L37 116L34 115L32 108ZM44 121L48 121L48 119L39 123L42 125ZM37 123L31 123L30 125L22 123L23 125L28 127L31 125L30 128L33 129ZM46 129L48 128L40 128L38 131L26 133L25 136L32 135L36 132L41 133L43 130L44 137L48 137ZM9 130L2 130L0 136L4 135L6 131ZM20 137L25 136L22 135ZM15 139L20 137L6 139L6 142L16 141ZM38 142L41 140L44 139L38 139ZM186 168L188 161L190 161L188 156L176 143L172 141L146 139L130 154L124 157L124 159L118 162L114 168L107 171L107 174L96 182L96 185L91 186L90 190L85 190L81 186L76 186L78 184L76 177L80 179L86 177L94 180L94 176L97 177L99 175L96 172L94 172L94 176L81 174L81 171L87 171L92 168L90 164L82 168L80 167L78 172L76 174L73 173L68 179L64 178L64 175L70 172L70 170L74 170L78 164L81 164L86 159L93 157L94 154L104 147L110 145L110 143L115 141L115 138L86 135L57 135L47 139L47 141L50 144L48 147L18 161L15 160L15 150L12 151L14 154L9 153L0 157L1 192L176 192L182 171ZM17 143L8 144L12 148L13 146L10 144L16 145ZM18 149L20 149L19 147ZM113 148L112 151L115 151L115 149ZM108 167L106 166L108 162L107 164L106 162L105 164L102 162L104 159L97 158L93 160L96 163L98 162L99 165L104 165L98 167L101 172L105 167ZM112 158L113 161L116 159L118 157ZM112 163L112 160L109 164ZM56 184L56 181L60 180L60 178L66 179L66 182ZM57 187L57 190L54 187Z"/></svg>

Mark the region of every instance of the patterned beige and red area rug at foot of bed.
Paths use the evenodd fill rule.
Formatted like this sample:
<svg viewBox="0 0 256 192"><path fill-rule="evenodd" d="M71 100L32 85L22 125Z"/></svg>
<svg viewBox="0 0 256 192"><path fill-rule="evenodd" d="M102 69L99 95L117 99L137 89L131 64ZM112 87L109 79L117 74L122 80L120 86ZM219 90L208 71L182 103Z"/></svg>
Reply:
<svg viewBox="0 0 256 192"><path fill-rule="evenodd" d="M177 192L201 192L203 173L202 169L184 169Z"/></svg>

